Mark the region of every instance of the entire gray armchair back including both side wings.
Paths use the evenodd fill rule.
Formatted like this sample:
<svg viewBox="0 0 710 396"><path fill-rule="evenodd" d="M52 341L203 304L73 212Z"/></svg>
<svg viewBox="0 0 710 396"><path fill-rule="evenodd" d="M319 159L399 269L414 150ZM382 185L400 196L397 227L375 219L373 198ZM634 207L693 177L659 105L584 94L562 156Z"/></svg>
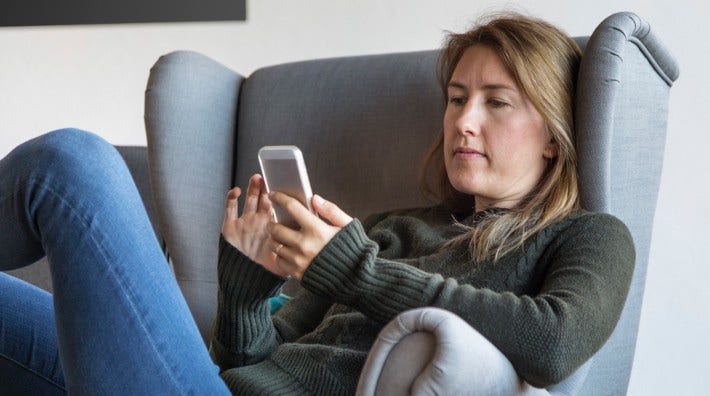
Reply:
<svg viewBox="0 0 710 396"><path fill-rule="evenodd" d="M580 72L590 81L580 81L578 95L584 205L629 223L639 252L622 322L589 375L579 377L587 378L584 389L599 387L604 394L624 393L628 382L668 87L677 75L659 77L664 69L658 59L672 64L670 57L652 36L635 38L639 35L626 20L638 18L618 14L605 21L618 24L626 41L596 32L590 38L587 50L593 52L585 53ZM653 44L644 44L648 40ZM586 38L578 41L584 44ZM612 67L604 48L625 61ZM424 152L441 131L444 97L435 75L437 55L298 62L263 68L247 79L191 52L158 60L145 114L153 192L176 276L205 337L216 307L224 195L257 172L261 146L299 146L314 191L354 216L428 203L417 175ZM659 138L651 143L648 135ZM624 353L617 355L618 349Z"/></svg>

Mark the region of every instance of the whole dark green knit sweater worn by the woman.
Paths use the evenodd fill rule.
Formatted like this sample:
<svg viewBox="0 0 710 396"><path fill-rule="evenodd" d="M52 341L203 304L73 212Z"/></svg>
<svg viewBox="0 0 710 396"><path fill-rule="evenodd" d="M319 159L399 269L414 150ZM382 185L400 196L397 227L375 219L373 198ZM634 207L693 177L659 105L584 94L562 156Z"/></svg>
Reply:
<svg viewBox="0 0 710 396"><path fill-rule="evenodd" d="M353 220L273 317L268 299L284 281L222 239L210 349L222 378L242 395L354 394L382 327L425 306L463 318L538 387L563 380L603 345L634 267L618 219L577 213L495 263L476 262L465 245L440 250L462 232L443 207Z"/></svg>

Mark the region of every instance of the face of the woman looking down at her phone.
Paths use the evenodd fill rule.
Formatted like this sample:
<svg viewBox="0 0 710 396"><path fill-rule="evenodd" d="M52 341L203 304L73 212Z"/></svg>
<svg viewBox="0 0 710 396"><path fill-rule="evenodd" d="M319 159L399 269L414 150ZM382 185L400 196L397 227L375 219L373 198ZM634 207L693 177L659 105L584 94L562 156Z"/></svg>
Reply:
<svg viewBox="0 0 710 396"><path fill-rule="evenodd" d="M468 48L448 85L444 162L476 210L511 208L537 184L557 147L540 113L490 48Z"/></svg>

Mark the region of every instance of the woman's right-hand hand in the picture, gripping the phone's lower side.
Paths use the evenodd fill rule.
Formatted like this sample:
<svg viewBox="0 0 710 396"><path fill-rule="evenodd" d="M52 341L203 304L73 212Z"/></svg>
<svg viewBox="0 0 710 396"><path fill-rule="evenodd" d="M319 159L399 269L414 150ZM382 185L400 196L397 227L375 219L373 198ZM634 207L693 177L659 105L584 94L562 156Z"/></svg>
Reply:
<svg viewBox="0 0 710 396"><path fill-rule="evenodd" d="M316 255L323 250L341 228L352 221L352 217L334 203L326 201L318 195L313 196L311 205L315 212L330 224L309 212L298 200L286 194L272 192L269 194L269 198L273 204L284 208L301 226L300 230L294 230L275 222L268 226L271 239L276 243L274 252L278 255L279 267L294 278L301 280Z"/></svg>

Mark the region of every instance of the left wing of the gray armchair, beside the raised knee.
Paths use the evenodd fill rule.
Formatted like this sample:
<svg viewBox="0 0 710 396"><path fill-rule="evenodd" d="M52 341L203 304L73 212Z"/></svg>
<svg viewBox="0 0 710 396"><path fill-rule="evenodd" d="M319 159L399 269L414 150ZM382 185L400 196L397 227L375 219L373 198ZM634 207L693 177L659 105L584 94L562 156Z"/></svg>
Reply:
<svg viewBox="0 0 710 396"><path fill-rule="evenodd" d="M207 342L217 241L231 187L242 77L194 52L153 66L145 93L151 182L175 275Z"/></svg>

